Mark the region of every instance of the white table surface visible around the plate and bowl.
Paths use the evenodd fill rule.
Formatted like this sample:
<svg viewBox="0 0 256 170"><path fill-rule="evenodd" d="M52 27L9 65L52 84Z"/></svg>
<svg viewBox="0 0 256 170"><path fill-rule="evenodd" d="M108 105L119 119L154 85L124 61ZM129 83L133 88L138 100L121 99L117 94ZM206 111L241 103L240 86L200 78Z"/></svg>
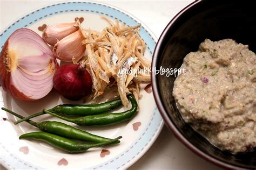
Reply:
<svg viewBox="0 0 256 170"><path fill-rule="evenodd" d="M15 19L42 6L63 2L57 0L0 0L1 32ZM151 31L160 37L170 20L192 1L93 1L102 2L123 9L145 23ZM14 5L15 4L15 5ZM11 10L10 10L11 9ZM14 12L15 11L15 12ZM164 126L159 137L149 151L129 169L220 169L194 154L177 140ZM4 169L0 165L0 169Z"/></svg>

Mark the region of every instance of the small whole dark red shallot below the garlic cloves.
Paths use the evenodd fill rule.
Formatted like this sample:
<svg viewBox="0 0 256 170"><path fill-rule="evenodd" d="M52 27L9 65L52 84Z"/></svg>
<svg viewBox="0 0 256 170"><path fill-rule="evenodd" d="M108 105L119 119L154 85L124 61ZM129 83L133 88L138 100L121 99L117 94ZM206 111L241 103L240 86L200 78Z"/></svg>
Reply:
<svg viewBox="0 0 256 170"><path fill-rule="evenodd" d="M82 63L59 67L53 76L53 87L69 100L79 100L92 91L91 75Z"/></svg>

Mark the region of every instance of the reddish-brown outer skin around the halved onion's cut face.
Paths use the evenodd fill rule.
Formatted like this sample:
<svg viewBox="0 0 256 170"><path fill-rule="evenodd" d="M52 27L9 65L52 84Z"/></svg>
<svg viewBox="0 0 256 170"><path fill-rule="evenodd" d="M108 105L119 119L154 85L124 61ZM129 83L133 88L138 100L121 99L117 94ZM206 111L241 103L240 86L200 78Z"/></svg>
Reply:
<svg viewBox="0 0 256 170"><path fill-rule="evenodd" d="M33 32L32 30L29 30L29 29L18 29L16 31L28 31L30 33L35 34L35 36L38 36L37 33ZM6 56L11 55L11 54L9 54L8 47L10 46L10 44L9 44L10 40L11 40L11 38L13 38L12 36L13 36L13 34L15 34L15 32L12 33L11 36L5 41L5 44L2 48L2 52L1 52L1 56L0 56L0 84L3 87L3 89L6 91L6 93L8 93L12 97L16 98L17 100L20 100L20 101L35 101L35 100L38 100L39 98L32 98L31 96L25 95L23 93L23 91L18 90L14 86L14 84L11 83L12 72L4 63L4 60L6 59ZM41 37L38 36L36 38L41 38ZM42 41L43 41L43 39L42 39ZM51 50L50 47L49 47L49 50ZM53 60L52 63L54 63L54 68L58 68L58 63L56 61L56 58L54 58L53 55L52 55L52 60ZM54 70L54 72L55 72L55 70ZM47 94L45 94L45 95L47 95Z"/></svg>

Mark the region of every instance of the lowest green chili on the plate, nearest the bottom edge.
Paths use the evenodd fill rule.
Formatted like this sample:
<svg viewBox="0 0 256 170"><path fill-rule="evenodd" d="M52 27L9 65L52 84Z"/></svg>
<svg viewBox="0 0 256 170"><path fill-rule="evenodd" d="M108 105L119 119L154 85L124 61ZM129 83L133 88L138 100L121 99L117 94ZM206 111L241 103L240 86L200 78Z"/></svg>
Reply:
<svg viewBox="0 0 256 170"><path fill-rule="evenodd" d="M46 143L55 146L59 148L60 150L64 150L71 153L79 153L79 152L85 152L89 148L92 147L99 147L103 145L109 145L112 144L114 141L117 141L118 139L122 138L121 136L105 141L103 143L98 144L85 144L85 143L77 143L76 141L66 139L60 136L57 136L56 134L51 134L47 132L32 132L32 133L25 133L22 134L19 139L26 139L26 138L32 138L37 140L45 141Z"/></svg>

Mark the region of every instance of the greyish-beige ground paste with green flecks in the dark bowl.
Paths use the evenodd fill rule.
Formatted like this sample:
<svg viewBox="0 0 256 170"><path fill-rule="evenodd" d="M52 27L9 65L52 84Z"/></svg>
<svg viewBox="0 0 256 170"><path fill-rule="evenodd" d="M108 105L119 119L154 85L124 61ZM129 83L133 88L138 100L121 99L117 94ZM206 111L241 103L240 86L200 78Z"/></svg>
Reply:
<svg viewBox="0 0 256 170"><path fill-rule="evenodd" d="M256 146L256 55L232 39L206 39L184 58L173 96L186 123L233 153Z"/></svg>

